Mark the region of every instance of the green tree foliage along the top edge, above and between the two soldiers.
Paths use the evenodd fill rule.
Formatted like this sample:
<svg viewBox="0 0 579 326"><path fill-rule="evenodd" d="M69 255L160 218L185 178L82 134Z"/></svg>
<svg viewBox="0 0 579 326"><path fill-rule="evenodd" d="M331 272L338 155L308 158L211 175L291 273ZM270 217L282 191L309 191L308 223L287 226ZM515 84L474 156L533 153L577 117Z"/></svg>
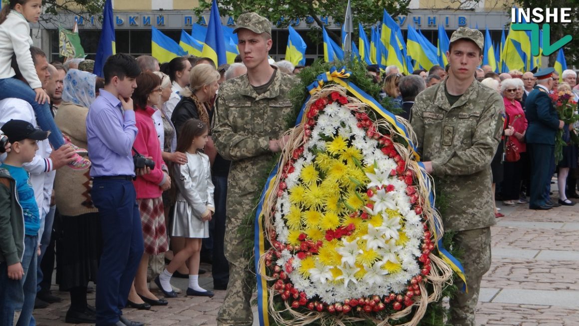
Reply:
<svg viewBox="0 0 579 326"><path fill-rule="evenodd" d="M354 30L357 30L358 22L363 25L375 24L382 20L383 9L393 16L408 13L410 0L351 0ZM312 26L322 28L323 21L320 16L334 17L336 21L343 22L346 14L347 1L318 1L318 0L219 0L219 14L229 15L236 19L245 12L256 12L270 21L277 21L279 27L287 27L293 19L305 19L308 16L314 18ZM200 0L195 13L199 16L211 8L210 0ZM334 41L341 43L339 35L332 31L328 34Z"/></svg>

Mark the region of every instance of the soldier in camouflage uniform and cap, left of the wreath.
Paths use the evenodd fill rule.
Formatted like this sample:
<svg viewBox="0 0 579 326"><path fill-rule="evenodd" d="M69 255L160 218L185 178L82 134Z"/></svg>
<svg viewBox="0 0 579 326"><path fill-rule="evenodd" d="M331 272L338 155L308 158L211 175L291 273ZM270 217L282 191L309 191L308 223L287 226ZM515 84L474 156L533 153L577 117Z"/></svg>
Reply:
<svg viewBox="0 0 579 326"><path fill-rule="evenodd" d="M255 275L243 257L239 227L255 206L260 181L280 151L285 118L291 112L288 91L298 82L267 62L272 47L271 23L256 13L237 19L239 52L247 74L221 85L215 103L212 130L217 151L231 160L228 179L225 257L229 261L229 284L225 302L217 315L218 325L250 326L250 299Z"/></svg>

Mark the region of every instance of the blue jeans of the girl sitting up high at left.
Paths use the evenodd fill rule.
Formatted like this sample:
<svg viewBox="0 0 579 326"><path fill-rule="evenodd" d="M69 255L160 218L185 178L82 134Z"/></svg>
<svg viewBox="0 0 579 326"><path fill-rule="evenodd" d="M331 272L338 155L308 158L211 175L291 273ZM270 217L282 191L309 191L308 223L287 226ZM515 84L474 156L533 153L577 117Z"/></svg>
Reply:
<svg viewBox="0 0 579 326"><path fill-rule="evenodd" d="M36 93L27 83L13 77L0 79L0 100L8 97L20 98L20 100L30 103L32 109L34 109L38 126L40 126L42 130L50 131L50 135L48 135L50 145L52 145L54 149L58 149L64 145L63 134L60 133L60 129L58 129L56 123L54 123L54 118L52 117L52 113L50 113L50 104L48 102L45 104L36 102Z"/></svg>

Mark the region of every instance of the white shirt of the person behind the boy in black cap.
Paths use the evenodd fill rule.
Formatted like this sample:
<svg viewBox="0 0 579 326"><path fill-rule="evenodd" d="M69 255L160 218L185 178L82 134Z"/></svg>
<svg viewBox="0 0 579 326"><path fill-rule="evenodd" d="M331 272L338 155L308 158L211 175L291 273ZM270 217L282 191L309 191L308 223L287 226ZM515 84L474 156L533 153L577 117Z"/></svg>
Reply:
<svg viewBox="0 0 579 326"><path fill-rule="evenodd" d="M9 97L0 101L0 126L12 119L24 120L32 123L34 127L38 127L30 103L19 98ZM34 196L41 219L50 210L50 196L56 174L53 170L52 159L49 158L50 153L52 153L52 148L50 148L48 140L39 141L38 151L36 151L32 162L22 165L30 173L30 183L34 188Z"/></svg>

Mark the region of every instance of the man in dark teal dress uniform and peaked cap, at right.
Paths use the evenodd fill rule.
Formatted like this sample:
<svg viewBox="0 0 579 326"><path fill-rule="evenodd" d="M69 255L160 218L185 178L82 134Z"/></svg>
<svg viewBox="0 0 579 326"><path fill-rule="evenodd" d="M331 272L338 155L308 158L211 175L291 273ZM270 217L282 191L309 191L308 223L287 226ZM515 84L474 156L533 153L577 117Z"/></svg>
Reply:
<svg viewBox="0 0 579 326"><path fill-rule="evenodd" d="M554 80L554 68L540 69L534 74L537 86L529 93L526 99L526 118L529 122L525 135L529 158L531 162L531 198L529 208L532 210L550 210L548 192L545 188L553 171L551 160L554 158L555 133L563 128L563 121L557 117L549 91Z"/></svg>

